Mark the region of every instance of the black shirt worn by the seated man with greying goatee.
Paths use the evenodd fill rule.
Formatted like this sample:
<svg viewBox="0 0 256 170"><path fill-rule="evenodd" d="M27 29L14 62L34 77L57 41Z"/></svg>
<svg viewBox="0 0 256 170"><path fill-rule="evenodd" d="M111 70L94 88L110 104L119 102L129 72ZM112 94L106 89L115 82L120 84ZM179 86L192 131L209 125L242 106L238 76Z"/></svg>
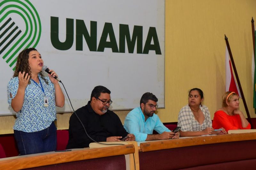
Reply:
<svg viewBox="0 0 256 170"><path fill-rule="evenodd" d="M106 141L111 136L128 135L119 117L111 110L99 115L92 109L89 101L87 105L76 110L77 116L84 124L88 135L97 142ZM89 147L94 142L86 135L84 128L76 114L73 113L69 119L69 140L67 149Z"/></svg>

